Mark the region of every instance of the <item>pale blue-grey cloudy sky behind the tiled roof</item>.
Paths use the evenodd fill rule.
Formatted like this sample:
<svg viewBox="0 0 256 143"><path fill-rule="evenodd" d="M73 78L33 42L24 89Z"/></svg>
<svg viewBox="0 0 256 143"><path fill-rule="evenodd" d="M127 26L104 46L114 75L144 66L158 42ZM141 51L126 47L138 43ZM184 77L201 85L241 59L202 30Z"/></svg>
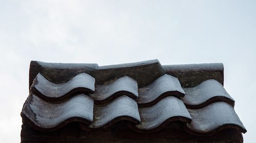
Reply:
<svg viewBox="0 0 256 143"><path fill-rule="evenodd" d="M0 142L19 142L31 60L223 63L224 88L256 133L256 1L0 0Z"/></svg>

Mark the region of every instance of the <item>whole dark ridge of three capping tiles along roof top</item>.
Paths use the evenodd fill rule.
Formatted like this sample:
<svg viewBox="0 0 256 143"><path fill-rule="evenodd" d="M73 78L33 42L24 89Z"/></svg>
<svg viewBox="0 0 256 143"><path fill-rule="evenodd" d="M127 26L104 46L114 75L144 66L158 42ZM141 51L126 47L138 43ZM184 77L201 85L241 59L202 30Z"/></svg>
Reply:
<svg viewBox="0 0 256 143"><path fill-rule="evenodd" d="M177 77L183 88L190 88L207 79L215 79L223 84L223 69L223 64L221 63L161 66L158 60L110 66L31 61L29 87L38 73L41 73L46 79L54 83L64 83L79 73L88 73L96 78L96 84L101 85L110 83L112 80L122 76L130 76L138 82L139 87L149 85L166 73Z"/></svg>

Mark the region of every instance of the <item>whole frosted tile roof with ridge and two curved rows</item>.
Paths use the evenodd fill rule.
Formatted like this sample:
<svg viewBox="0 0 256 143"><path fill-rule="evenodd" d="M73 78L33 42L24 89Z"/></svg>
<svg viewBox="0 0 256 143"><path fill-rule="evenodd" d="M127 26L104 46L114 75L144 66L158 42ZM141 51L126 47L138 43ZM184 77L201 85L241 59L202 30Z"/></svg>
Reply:
<svg viewBox="0 0 256 143"><path fill-rule="evenodd" d="M78 123L86 132L125 124L132 132L152 134L178 123L194 136L216 136L229 129L245 133L234 100L223 87L223 71L220 63L31 61L30 94L21 116L24 125L43 132Z"/></svg>

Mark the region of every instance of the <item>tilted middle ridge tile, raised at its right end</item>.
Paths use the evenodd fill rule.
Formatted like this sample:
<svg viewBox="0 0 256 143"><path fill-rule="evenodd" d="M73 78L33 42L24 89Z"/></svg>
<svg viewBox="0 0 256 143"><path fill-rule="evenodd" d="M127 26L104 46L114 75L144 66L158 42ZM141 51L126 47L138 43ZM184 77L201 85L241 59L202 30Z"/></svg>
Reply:
<svg viewBox="0 0 256 143"><path fill-rule="evenodd" d="M164 69L158 60L137 63L100 66L92 72L97 84L111 83L122 76L135 79L139 87L144 87L164 74Z"/></svg>

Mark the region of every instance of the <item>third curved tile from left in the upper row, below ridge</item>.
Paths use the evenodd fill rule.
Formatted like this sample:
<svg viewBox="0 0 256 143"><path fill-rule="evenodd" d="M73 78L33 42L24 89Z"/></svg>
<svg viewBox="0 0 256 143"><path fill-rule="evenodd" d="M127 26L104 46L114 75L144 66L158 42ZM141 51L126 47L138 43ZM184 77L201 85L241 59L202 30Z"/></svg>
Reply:
<svg viewBox="0 0 256 143"><path fill-rule="evenodd" d="M164 74L148 87L139 89L137 103L139 106L151 106L166 96L184 97L178 78Z"/></svg>

